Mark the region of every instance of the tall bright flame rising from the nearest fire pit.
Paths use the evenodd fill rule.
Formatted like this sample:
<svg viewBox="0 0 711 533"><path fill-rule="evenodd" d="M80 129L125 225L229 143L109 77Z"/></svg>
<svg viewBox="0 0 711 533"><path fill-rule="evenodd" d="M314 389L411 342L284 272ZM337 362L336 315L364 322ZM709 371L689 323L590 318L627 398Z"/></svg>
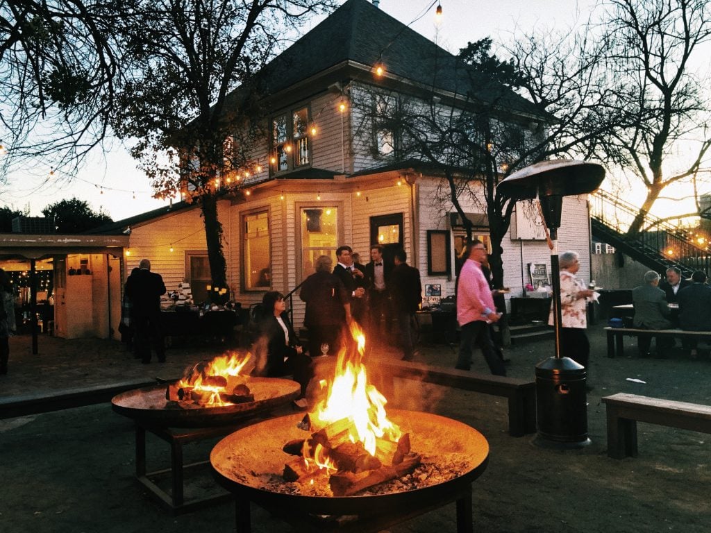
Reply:
<svg viewBox="0 0 711 533"><path fill-rule="evenodd" d="M336 375L328 387L326 399L316 404L309 413L311 424L323 428L333 422L349 419L349 438L363 443L371 456L375 456L378 438L397 442L402 435L400 428L387 419L387 399L372 384L363 365L365 335L357 323L351 324L351 335L357 349L343 349L338 353Z"/></svg>

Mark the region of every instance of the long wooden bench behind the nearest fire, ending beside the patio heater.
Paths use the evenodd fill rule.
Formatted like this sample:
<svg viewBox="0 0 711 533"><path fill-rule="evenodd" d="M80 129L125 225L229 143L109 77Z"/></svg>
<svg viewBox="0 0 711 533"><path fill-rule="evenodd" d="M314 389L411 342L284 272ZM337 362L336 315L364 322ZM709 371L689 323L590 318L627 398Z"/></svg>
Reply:
<svg viewBox="0 0 711 533"><path fill-rule="evenodd" d="M325 375L322 365L335 365L335 357L315 357L316 375ZM368 365L368 376L387 397L392 394L393 380L412 379L444 387L492 394L508 399L508 433L514 437L535 433L535 382L515 377L493 376L433 367L422 363L374 359Z"/></svg>

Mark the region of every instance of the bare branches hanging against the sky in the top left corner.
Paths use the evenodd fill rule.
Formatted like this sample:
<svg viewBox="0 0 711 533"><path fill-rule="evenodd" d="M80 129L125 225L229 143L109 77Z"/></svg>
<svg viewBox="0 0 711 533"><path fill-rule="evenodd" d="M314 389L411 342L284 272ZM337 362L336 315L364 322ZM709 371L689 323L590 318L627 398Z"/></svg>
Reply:
<svg viewBox="0 0 711 533"><path fill-rule="evenodd" d="M119 57L114 8L101 0L0 3L0 123L16 168L70 173L107 136Z"/></svg>

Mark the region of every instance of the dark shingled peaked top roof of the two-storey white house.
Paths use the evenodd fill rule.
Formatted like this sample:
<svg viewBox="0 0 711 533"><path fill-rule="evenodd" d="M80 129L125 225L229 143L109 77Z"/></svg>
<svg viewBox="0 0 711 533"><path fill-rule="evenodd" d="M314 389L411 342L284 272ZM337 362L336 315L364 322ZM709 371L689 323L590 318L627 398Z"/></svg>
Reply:
<svg viewBox="0 0 711 533"><path fill-rule="evenodd" d="M336 65L383 63L390 75L512 111L541 115L532 102L492 82L368 0L348 0L260 72L274 94ZM544 114L543 117L547 117Z"/></svg>

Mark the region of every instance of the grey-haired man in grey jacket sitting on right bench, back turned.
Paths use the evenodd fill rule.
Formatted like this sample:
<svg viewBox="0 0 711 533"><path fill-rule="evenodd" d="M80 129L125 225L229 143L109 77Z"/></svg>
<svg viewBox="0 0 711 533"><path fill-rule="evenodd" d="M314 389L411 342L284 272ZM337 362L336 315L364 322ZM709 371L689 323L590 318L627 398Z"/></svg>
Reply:
<svg viewBox="0 0 711 533"><path fill-rule="evenodd" d="M665 330L672 328L669 320L669 306L664 291L659 288L659 274L650 270L644 274L644 284L632 289L634 305L634 327L646 330ZM667 343L660 343L657 338L657 352L663 355L663 350L670 348ZM648 357L651 335L637 336L637 348L640 357Z"/></svg>

